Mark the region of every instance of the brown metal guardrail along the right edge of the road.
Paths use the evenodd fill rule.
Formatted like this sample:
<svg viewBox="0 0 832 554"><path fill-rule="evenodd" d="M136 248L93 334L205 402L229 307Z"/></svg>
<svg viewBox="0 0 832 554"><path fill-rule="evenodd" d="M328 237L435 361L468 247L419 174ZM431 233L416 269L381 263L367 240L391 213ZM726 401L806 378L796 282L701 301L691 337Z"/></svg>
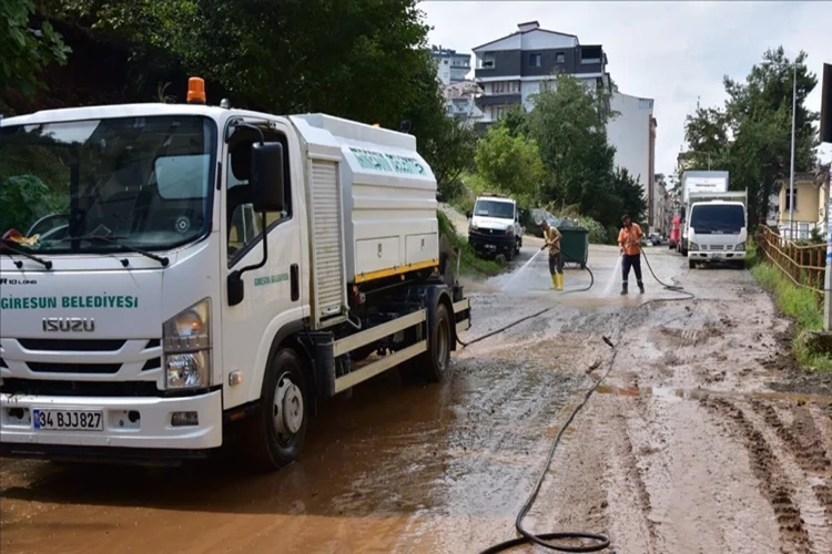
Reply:
<svg viewBox="0 0 832 554"><path fill-rule="evenodd" d="M826 245L799 246L765 225L760 225L757 248L795 286L814 291L823 298L826 270Z"/></svg>

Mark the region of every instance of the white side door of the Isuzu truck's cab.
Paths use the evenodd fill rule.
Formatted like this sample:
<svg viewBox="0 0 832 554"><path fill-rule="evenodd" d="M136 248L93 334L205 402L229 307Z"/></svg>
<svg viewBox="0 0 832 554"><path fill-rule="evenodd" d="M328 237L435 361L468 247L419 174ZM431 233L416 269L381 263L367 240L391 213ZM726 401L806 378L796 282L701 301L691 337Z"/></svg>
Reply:
<svg viewBox="0 0 832 554"><path fill-rule="evenodd" d="M303 319L306 291L302 287L302 216L298 213L302 172L294 167L300 162L300 146L287 127L257 124L266 142L283 143L286 207L280 214L261 214L251 203L252 144L260 134L246 127L236 127L226 141L222 191L224 214L223 244L226 256L221 261L223 276L222 334L224 408L232 408L260 397L260 379L275 332L291 321ZM264 225L265 224L265 225ZM227 276L263 260L263 232L265 226L268 256L263 267L245 271L242 276L245 296L236 306L229 306ZM229 373L241 371L243 382L229 384Z"/></svg>

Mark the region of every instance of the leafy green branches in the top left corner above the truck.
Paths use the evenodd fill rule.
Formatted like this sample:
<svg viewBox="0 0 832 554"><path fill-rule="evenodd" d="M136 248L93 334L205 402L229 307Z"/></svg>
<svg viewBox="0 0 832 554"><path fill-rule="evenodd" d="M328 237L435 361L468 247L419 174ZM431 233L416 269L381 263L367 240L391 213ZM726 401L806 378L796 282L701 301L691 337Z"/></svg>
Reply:
<svg viewBox="0 0 832 554"><path fill-rule="evenodd" d="M0 93L13 89L33 96L43 88L41 72L52 62L63 64L70 49L51 23L30 27L34 13L32 0L0 2Z"/></svg>

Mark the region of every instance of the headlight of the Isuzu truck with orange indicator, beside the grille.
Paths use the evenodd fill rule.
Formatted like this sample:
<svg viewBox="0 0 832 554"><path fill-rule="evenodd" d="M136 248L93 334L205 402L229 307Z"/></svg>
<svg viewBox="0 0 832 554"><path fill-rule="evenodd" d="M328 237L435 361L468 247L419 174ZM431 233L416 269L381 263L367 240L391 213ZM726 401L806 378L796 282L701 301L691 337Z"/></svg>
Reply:
<svg viewBox="0 0 832 554"><path fill-rule="evenodd" d="M204 298L162 326L165 389L200 389L211 381L211 300Z"/></svg>

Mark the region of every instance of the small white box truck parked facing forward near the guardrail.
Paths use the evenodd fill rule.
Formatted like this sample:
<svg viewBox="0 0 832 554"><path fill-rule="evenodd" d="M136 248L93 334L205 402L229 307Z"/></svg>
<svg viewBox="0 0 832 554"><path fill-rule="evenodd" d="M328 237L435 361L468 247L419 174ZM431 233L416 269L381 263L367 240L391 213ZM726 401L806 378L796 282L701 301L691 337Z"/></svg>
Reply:
<svg viewBox="0 0 832 554"><path fill-rule="evenodd" d="M688 208L688 266L726 263L745 267L748 192L691 193Z"/></svg>

